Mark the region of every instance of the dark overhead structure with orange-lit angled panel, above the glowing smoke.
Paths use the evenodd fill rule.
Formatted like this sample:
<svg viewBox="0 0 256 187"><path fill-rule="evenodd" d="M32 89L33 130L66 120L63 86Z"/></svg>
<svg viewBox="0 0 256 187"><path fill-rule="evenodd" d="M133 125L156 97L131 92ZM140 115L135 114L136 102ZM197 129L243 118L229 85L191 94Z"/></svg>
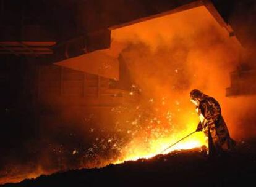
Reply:
<svg viewBox="0 0 256 187"><path fill-rule="evenodd" d="M247 17L255 15L253 0L2 0L0 55L42 57L38 62L118 79L118 55L107 50L111 30L199 6L237 44L252 49L256 38L247 36L256 28Z"/></svg>

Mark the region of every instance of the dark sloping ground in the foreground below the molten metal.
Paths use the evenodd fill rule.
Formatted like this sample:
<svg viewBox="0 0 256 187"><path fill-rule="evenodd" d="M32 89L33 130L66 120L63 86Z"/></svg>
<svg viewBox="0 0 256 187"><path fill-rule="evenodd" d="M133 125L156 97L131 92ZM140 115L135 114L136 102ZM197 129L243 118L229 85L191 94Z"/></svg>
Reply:
<svg viewBox="0 0 256 187"><path fill-rule="evenodd" d="M240 143L222 160L209 161L205 150L192 149L3 186L256 186L256 140Z"/></svg>

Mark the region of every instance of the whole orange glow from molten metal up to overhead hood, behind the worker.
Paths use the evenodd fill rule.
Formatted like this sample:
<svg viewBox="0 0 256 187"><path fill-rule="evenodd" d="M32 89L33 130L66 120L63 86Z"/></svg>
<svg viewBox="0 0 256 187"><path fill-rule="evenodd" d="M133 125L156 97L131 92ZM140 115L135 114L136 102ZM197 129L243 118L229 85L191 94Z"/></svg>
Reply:
<svg viewBox="0 0 256 187"><path fill-rule="evenodd" d="M105 147L103 151L114 150L114 156L109 159L108 156L100 157L93 154L94 149L91 152L87 151L93 154L95 160L87 161L87 153L81 154L79 163L82 164L78 166L80 168L103 167L140 158L148 159L194 132L199 118L189 98L192 89L200 89L219 101L231 137L239 133L237 124L256 106L255 98L225 97L225 89L230 84L229 72L236 69L240 49L204 6L112 30L111 41L111 53L108 52L108 55L112 54L112 59L120 52L136 84L135 87L140 89L140 94L130 92L128 95L130 98L139 95L140 99L137 103L130 103L130 100L124 98L123 107L126 111L119 111L117 107L113 108L114 114L109 114L109 111L105 113L104 119L114 121L115 124L111 124L113 126L108 126L109 123L103 119L103 115L96 116L101 121L102 126L99 126L102 129L105 128L109 134L118 132L118 135L121 134L124 138L119 140L118 137L118 141L115 139L116 143L113 143L112 137L104 137L103 141L101 137L97 137L93 142L96 150ZM112 49L116 49L118 53L113 53ZM113 62L116 62L116 59ZM114 70L116 67L115 64ZM237 107L241 105L243 111ZM72 109L67 109L67 116L74 117L74 113ZM85 126L88 127L88 124L84 123L81 129ZM97 133L93 125L89 133ZM98 146L97 143L105 145ZM197 132L164 154L202 146L206 146L205 136L203 132ZM82 152L74 150L70 152L73 157L78 157ZM36 170L30 173L33 174L0 180L0 183L20 181L51 172Z"/></svg>

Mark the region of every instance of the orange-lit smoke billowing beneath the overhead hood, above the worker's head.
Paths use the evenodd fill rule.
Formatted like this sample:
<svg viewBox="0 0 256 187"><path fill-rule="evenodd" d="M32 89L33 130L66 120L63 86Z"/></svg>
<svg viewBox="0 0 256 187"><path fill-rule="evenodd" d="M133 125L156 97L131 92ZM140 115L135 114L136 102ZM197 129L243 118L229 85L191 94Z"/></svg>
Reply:
<svg viewBox="0 0 256 187"><path fill-rule="evenodd" d="M168 97L189 104L189 91L226 100L229 72L239 47L204 7L137 23L112 31L126 49L122 56L144 97ZM191 106L191 107L190 107Z"/></svg>

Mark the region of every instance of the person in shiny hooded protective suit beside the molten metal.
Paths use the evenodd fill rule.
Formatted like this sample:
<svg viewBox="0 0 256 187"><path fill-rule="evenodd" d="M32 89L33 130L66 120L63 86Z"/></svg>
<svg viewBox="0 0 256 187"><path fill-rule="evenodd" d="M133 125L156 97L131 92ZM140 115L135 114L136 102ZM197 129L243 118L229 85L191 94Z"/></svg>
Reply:
<svg viewBox="0 0 256 187"><path fill-rule="evenodd" d="M200 117L197 131L202 130L208 139L208 156L223 156L232 151L236 143L229 136L218 101L197 89L190 92L190 98Z"/></svg>

